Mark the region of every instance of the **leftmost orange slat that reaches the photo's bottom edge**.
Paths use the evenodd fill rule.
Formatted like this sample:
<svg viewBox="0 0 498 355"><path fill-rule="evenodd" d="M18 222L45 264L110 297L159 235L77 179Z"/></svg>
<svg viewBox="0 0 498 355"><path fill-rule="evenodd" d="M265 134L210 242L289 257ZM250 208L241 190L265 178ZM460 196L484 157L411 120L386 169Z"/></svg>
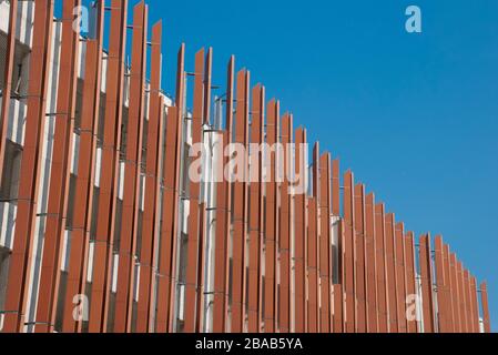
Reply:
<svg viewBox="0 0 498 355"><path fill-rule="evenodd" d="M7 278L2 332L21 332L24 327L28 301L28 268L31 265L35 207L40 185L40 162L43 148L45 100L50 73L53 2L37 1L33 44L30 58L26 135L22 151L16 232Z"/></svg>

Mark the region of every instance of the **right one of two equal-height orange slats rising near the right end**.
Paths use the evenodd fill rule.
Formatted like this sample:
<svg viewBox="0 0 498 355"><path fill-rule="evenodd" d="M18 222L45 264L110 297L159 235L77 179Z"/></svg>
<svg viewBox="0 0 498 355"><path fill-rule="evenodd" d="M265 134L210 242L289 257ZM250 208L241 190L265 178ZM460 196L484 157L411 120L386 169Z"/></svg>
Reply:
<svg viewBox="0 0 498 355"><path fill-rule="evenodd" d="M437 235L434 239L434 260L436 264L436 296L437 296L437 322L439 333L448 333L448 303L447 303L447 280L444 271L444 247L443 239Z"/></svg>

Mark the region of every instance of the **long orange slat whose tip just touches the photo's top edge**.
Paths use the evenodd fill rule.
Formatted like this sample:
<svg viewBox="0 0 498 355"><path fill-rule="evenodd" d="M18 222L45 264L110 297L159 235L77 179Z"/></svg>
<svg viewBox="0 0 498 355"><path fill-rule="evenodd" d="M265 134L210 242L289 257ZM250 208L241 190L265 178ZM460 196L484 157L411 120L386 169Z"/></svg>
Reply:
<svg viewBox="0 0 498 355"><path fill-rule="evenodd" d="M133 278L135 273L136 232L139 221L142 130L144 118L148 6L140 2L133 10L130 108L124 161L123 212L118 267L114 332L131 332Z"/></svg>

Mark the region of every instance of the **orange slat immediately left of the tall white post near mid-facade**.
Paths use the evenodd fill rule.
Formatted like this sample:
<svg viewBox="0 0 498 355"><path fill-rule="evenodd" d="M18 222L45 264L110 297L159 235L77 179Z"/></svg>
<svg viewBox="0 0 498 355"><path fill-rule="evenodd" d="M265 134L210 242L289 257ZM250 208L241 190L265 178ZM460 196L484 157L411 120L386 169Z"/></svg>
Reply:
<svg viewBox="0 0 498 355"><path fill-rule="evenodd" d="M194 70L194 109L192 112L192 146L196 155L191 156L192 163L202 160L202 151L197 151L196 146L203 141L203 113L204 113L204 49L195 53ZM189 168L189 170L191 166ZM195 302L197 300L199 287L197 280L197 256L199 245L202 237L200 231L200 197L201 184L196 180L190 180L190 213L189 213L189 234L186 240L186 268L185 268L185 307L183 331L185 333L195 332L196 310Z"/></svg>

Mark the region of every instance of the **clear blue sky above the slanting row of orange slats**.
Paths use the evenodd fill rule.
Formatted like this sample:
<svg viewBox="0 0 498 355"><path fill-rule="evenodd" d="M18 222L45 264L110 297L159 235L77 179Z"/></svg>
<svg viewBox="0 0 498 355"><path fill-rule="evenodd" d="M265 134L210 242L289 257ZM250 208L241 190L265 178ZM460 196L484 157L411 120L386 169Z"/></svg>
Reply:
<svg viewBox="0 0 498 355"><path fill-rule="evenodd" d="M194 52L213 47L223 87L235 54L397 221L441 233L488 281L498 331L498 1L148 3L151 22L163 19L167 92L181 42L191 71ZM405 31L410 4L420 34Z"/></svg>

